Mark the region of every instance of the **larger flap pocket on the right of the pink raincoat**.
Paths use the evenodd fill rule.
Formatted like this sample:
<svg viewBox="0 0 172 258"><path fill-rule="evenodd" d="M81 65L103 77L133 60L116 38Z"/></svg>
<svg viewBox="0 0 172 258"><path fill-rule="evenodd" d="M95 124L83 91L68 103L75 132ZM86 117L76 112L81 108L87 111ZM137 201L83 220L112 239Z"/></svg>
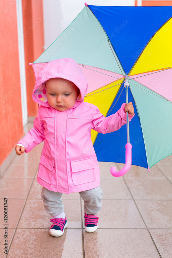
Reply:
<svg viewBox="0 0 172 258"><path fill-rule="evenodd" d="M74 186L95 181L93 157L73 160L70 163Z"/></svg>

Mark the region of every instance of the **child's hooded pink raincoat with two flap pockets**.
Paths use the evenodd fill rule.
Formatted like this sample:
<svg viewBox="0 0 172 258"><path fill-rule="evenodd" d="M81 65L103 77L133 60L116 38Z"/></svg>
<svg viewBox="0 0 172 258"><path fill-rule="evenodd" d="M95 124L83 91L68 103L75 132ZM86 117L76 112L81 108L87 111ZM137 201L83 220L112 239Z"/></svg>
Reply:
<svg viewBox="0 0 172 258"><path fill-rule="evenodd" d="M50 107L45 88L50 78L70 80L79 88L80 95L72 108L61 112ZM91 129L110 133L126 124L125 103L115 114L104 117L96 106L83 102L87 85L83 72L71 58L48 62L36 79L32 99L40 104L38 116L19 143L29 152L44 141L37 182L48 190L70 193L98 187L100 172ZM133 116L129 115L129 121Z"/></svg>

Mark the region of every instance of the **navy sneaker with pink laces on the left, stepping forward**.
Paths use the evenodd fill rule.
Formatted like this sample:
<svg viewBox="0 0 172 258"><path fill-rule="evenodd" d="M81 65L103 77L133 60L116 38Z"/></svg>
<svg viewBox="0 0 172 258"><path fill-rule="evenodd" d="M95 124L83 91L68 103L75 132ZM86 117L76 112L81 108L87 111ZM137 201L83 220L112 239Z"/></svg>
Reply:
<svg viewBox="0 0 172 258"><path fill-rule="evenodd" d="M67 227L68 225L68 221L65 217L65 219L51 219L51 222L53 222L53 225L51 225L50 228L50 235L53 237L60 237L63 235L64 233L64 229Z"/></svg>

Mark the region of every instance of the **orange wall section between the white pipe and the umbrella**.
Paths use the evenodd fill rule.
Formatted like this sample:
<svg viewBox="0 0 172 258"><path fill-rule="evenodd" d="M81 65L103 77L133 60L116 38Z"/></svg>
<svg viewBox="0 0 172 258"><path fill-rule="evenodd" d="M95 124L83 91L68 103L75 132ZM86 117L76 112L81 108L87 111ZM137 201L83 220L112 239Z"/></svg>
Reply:
<svg viewBox="0 0 172 258"><path fill-rule="evenodd" d="M22 12L28 116L37 116L38 104L31 97L35 75L29 63L34 62L44 51L42 0L22 0Z"/></svg>

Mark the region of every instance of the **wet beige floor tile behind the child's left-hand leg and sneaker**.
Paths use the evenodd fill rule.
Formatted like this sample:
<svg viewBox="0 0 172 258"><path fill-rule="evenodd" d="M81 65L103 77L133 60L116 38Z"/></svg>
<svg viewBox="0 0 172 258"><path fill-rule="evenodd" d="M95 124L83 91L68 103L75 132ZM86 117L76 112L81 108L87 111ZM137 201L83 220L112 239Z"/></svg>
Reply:
<svg viewBox="0 0 172 258"><path fill-rule="evenodd" d="M68 228L81 228L80 200L63 200ZM52 216L45 211L42 200L28 199L18 228L50 228Z"/></svg>

